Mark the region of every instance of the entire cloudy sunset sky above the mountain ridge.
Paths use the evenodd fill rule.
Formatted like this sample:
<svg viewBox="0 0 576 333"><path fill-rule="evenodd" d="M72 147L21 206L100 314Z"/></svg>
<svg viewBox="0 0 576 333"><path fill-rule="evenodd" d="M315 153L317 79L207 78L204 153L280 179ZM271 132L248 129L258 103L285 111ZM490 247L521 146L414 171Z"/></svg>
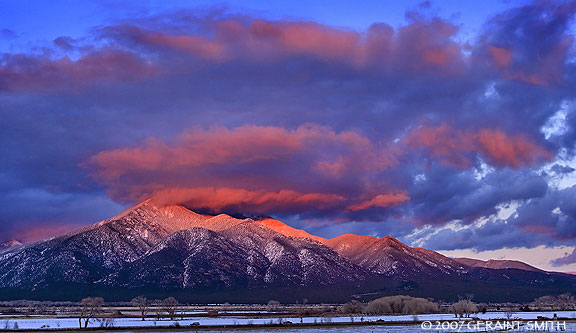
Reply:
<svg viewBox="0 0 576 333"><path fill-rule="evenodd" d="M576 271L576 1L2 1L0 241L152 198Z"/></svg>

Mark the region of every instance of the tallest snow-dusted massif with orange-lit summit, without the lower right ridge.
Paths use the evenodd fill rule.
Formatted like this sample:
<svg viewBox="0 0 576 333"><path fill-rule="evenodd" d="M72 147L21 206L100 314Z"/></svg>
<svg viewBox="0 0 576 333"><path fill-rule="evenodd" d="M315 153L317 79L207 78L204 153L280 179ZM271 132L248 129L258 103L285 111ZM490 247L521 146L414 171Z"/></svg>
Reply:
<svg viewBox="0 0 576 333"><path fill-rule="evenodd" d="M182 238L187 240L176 241ZM253 265L247 265L250 262ZM364 274L322 244L284 236L251 219L205 216L151 201L0 255L0 287L32 289L64 283L166 288L320 285L358 280Z"/></svg>

